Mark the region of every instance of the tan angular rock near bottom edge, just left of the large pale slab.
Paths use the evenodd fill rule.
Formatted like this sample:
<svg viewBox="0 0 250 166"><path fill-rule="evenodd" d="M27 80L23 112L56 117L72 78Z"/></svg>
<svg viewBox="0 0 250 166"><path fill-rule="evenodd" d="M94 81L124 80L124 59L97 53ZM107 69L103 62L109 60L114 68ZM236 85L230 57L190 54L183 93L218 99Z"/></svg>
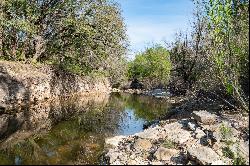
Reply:
<svg viewBox="0 0 250 166"><path fill-rule="evenodd" d="M168 149L168 148L160 147L157 149L154 155L158 160L170 161L171 157L173 157L177 153L178 153L178 150L176 149Z"/></svg>

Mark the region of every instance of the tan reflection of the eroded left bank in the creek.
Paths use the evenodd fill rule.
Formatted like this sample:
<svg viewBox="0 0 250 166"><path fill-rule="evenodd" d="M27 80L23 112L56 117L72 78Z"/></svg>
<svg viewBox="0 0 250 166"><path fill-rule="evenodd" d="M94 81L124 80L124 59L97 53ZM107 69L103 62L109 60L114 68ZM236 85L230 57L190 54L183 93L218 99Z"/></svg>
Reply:
<svg viewBox="0 0 250 166"><path fill-rule="evenodd" d="M29 116L26 117L22 129L49 130L58 122L85 112L91 109L90 107L104 107L108 102L108 98L109 95L107 94L90 94L88 96L59 98L59 100L52 102L29 105L29 107L24 108L26 112L29 112Z"/></svg>

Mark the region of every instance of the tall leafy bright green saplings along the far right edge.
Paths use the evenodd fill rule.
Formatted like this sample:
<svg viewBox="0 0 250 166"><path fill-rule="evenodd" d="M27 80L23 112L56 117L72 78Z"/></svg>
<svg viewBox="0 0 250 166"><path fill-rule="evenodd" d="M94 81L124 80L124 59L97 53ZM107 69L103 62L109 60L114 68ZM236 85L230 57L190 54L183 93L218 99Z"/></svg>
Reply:
<svg viewBox="0 0 250 166"><path fill-rule="evenodd" d="M248 0L210 0L206 4L213 73L245 110L249 109L248 5Z"/></svg>

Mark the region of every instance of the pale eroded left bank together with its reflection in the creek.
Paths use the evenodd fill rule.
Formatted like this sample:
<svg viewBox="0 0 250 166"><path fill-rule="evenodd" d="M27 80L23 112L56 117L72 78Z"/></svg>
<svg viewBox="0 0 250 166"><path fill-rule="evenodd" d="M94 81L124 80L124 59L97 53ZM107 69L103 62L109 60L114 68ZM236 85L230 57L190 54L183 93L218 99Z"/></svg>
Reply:
<svg viewBox="0 0 250 166"><path fill-rule="evenodd" d="M0 140L20 129L49 129L75 107L107 100L109 81L80 77L50 65L0 61ZM61 109L76 102L71 112Z"/></svg>

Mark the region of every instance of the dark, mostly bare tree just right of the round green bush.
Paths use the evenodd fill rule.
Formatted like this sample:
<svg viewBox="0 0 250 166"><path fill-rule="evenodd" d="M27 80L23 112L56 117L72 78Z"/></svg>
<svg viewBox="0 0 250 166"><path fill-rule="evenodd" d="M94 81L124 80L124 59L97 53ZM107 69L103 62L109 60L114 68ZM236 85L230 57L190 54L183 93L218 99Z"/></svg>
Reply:
<svg viewBox="0 0 250 166"><path fill-rule="evenodd" d="M173 64L172 76L183 80L182 89L192 89L200 77L203 77L206 63L206 19L199 1L195 2L194 20L191 35L179 32L171 44L170 58ZM176 80L172 83L175 84ZM177 83L177 82L176 82Z"/></svg>

